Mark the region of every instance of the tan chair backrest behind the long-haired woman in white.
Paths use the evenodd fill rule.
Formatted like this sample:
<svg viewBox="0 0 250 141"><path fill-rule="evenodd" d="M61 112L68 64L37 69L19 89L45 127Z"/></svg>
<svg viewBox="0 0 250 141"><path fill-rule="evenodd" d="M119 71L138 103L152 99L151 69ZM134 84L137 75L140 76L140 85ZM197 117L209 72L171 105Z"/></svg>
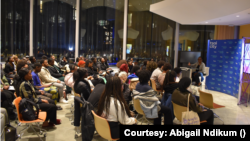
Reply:
<svg viewBox="0 0 250 141"><path fill-rule="evenodd" d="M98 116L93 110L92 114L94 116L95 129L101 137L107 140L119 140L119 139L112 139L110 126L105 118Z"/></svg>

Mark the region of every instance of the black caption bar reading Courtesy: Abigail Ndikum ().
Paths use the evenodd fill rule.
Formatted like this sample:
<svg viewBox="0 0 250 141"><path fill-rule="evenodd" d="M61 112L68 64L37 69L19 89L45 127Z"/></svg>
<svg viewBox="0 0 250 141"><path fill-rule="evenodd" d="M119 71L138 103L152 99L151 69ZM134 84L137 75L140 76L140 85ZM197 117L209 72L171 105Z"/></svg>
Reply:
<svg viewBox="0 0 250 141"><path fill-rule="evenodd" d="M250 138L248 125L121 125L120 140L167 138Z"/></svg>

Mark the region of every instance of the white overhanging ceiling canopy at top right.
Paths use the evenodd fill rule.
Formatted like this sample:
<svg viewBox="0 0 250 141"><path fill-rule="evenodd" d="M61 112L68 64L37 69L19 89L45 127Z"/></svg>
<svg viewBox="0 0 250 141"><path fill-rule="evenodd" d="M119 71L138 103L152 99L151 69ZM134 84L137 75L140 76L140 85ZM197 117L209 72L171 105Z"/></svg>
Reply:
<svg viewBox="0 0 250 141"><path fill-rule="evenodd" d="M229 25L250 23L250 0L164 0L150 11L184 25Z"/></svg>

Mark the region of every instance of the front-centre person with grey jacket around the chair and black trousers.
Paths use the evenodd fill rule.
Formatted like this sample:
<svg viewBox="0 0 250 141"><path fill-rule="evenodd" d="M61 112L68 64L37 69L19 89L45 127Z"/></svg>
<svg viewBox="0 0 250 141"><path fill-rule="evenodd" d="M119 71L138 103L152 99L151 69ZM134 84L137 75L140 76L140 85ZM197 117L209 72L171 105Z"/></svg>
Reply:
<svg viewBox="0 0 250 141"><path fill-rule="evenodd" d="M133 90L134 99L139 99L141 108L144 111L147 118L154 119L154 125L161 125L161 117L164 114L164 125L172 125L173 120L171 110L160 105L159 99L156 97L156 92L148 85L150 80L150 72L148 70L142 70L138 73L139 83Z"/></svg>

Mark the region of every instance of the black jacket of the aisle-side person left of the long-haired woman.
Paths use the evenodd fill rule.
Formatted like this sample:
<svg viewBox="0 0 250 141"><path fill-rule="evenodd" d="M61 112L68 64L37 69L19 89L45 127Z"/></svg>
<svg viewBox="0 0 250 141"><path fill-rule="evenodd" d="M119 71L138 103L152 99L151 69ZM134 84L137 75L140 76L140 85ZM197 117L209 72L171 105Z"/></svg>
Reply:
<svg viewBox="0 0 250 141"><path fill-rule="evenodd" d="M91 94L91 88L89 82L82 79L74 84L74 90L76 93L80 94L85 100L88 100Z"/></svg>

